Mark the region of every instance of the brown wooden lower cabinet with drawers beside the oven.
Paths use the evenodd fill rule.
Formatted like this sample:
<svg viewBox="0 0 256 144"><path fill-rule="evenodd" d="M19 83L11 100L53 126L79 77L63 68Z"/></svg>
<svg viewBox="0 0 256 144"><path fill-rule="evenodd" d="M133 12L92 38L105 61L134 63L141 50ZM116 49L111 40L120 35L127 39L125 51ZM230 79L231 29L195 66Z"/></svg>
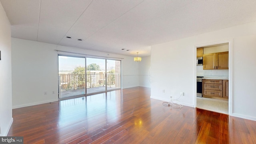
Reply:
<svg viewBox="0 0 256 144"><path fill-rule="evenodd" d="M228 80L203 79L203 96L228 98Z"/></svg>

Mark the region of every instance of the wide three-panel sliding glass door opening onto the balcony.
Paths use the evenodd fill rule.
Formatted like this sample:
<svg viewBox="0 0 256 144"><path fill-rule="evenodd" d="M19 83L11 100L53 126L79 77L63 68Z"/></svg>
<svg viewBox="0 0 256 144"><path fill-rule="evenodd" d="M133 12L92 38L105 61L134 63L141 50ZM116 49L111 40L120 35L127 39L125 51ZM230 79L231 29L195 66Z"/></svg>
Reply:
<svg viewBox="0 0 256 144"><path fill-rule="evenodd" d="M59 55L59 97L121 88L121 61Z"/></svg>

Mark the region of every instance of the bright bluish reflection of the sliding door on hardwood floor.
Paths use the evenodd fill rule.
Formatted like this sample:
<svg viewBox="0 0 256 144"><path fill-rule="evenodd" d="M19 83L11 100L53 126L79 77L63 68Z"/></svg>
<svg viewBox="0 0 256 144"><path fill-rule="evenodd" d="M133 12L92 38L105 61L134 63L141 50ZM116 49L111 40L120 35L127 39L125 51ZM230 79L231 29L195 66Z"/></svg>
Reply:
<svg viewBox="0 0 256 144"><path fill-rule="evenodd" d="M120 90L83 96L59 102L58 125L70 122L93 123L95 120L109 120L120 114Z"/></svg>

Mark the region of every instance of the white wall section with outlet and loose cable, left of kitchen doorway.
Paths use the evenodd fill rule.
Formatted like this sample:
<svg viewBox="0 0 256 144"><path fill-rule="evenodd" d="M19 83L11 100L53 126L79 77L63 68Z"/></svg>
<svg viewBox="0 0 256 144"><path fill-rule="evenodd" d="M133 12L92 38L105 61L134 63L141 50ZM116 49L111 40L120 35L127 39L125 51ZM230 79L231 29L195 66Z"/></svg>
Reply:
<svg viewBox="0 0 256 144"><path fill-rule="evenodd" d="M151 98L193 106L193 38L151 47ZM163 92L164 91L164 92Z"/></svg>

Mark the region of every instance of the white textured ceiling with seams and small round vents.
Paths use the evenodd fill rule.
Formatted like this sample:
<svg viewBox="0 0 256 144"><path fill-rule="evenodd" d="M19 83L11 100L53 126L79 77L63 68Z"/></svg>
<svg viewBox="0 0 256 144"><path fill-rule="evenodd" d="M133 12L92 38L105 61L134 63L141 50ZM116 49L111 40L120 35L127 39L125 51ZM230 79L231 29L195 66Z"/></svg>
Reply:
<svg viewBox="0 0 256 144"><path fill-rule="evenodd" d="M154 44L256 21L256 0L0 2L14 38L127 56L150 56Z"/></svg>

